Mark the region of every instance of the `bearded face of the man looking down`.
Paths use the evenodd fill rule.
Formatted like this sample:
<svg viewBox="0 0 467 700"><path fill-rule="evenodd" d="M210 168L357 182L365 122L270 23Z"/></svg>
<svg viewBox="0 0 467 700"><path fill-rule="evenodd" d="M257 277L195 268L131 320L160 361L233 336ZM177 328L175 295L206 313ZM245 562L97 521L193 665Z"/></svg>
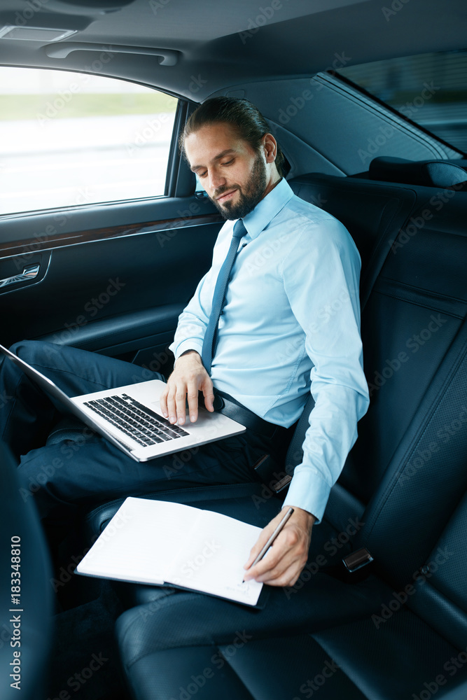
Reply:
<svg viewBox="0 0 467 700"><path fill-rule="evenodd" d="M185 152L209 199L225 218L243 218L265 196L265 157L229 124L210 124L193 132L186 138Z"/></svg>

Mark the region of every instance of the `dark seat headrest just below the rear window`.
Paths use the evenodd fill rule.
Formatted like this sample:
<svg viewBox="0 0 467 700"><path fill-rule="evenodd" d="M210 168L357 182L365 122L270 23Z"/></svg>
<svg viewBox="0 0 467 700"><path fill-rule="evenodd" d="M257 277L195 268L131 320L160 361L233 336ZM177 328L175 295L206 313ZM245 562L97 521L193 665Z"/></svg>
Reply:
<svg viewBox="0 0 467 700"><path fill-rule="evenodd" d="M464 161L461 161L464 163ZM467 169L445 160L420 160L381 156L370 163L372 180L407 185L448 188L467 181Z"/></svg>

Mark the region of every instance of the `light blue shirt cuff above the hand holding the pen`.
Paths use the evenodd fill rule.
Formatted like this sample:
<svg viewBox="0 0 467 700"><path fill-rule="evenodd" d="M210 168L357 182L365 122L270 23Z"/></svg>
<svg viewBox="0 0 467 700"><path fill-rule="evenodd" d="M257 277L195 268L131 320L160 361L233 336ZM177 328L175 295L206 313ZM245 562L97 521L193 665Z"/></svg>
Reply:
<svg viewBox="0 0 467 700"><path fill-rule="evenodd" d="M330 485L319 472L309 467L298 466L288 487L284 506L306 510L314 515L315 525L318 525L328 503L330 489Z"/></svg>

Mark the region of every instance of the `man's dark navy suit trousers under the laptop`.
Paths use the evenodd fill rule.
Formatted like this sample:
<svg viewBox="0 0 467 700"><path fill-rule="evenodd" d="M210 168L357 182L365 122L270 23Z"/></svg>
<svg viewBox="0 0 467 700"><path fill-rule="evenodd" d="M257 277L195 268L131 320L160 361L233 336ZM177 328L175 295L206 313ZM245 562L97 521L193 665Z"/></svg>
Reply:
<svg viewBox="0 0 467 700"><path fill-rule="evenodd" d="M24 341L12 350L69 396L164 379L138 365L67 346ZM43 518L61 519L70 509L123 496L256 481L251 466L274 447L263 435L246 430L139 463L84 424L73 440L46 444L63 409L8 358L1 365L0 396L0 436L18 459L22 497L33 497Z"/></svg>

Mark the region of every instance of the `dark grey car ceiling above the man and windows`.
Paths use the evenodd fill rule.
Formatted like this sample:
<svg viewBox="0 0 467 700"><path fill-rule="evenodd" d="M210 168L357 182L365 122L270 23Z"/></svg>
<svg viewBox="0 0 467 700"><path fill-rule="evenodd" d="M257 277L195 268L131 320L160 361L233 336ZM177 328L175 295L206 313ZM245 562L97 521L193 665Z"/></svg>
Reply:
<svg viewBox="0 0 467 700"><path fill-rule="evenodd" d="M53 43L0 37L0 64L128 78L200 102L232 85L332 69L336 57L358 64L464 48L467 3L3 0L0 29L4 25L78 31ZM111 60L102 62L102 52Z"/></svg>

